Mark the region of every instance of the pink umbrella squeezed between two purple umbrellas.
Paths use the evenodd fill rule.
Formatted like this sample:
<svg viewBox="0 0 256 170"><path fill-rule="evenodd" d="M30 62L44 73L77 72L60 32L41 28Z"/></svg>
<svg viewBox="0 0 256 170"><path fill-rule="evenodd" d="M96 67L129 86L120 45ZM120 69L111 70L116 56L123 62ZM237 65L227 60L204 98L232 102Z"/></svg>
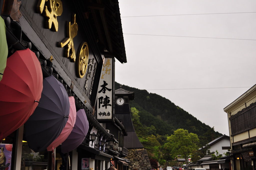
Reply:
<svg viewBox="0 0 256 170"><path fill-rule="evenodd" d="M76 122L77 111L76 111L75 99L73 96L69 97L69 102L70 102L70 112L69 112L68 122L65 125L64 129L61 131L60 135L47 147L47 151L52 151L52 149L56 148L62 142L64 142L74 127L74 124Z"/></svg>

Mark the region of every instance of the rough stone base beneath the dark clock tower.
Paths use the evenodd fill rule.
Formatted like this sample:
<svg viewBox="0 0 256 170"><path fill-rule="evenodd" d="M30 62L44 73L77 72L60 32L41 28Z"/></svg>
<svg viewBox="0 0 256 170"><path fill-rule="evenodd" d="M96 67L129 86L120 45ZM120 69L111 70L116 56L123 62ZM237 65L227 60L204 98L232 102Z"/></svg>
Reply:
<svg viewBox="0 0 256 170"><path fill-rule="evenodd" d="M151 169L147 150L145 149L129 149L126 159L129 159L131 161L128 170L132 170L133 168L137 168L138 170Z"/></svg>

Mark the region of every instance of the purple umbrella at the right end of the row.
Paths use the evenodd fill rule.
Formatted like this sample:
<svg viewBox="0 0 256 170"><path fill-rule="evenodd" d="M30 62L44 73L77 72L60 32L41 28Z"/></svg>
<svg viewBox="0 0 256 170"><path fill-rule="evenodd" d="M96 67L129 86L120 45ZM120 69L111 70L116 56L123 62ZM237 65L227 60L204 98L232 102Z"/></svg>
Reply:
<svg viewBox="0 0 256 170"><path fill-rule="evenodd" d="M61 152L68 153L77 148L86 137L89 130L89 122L83 109L77 111L77 119L68 138L61 144Z"/></svg>

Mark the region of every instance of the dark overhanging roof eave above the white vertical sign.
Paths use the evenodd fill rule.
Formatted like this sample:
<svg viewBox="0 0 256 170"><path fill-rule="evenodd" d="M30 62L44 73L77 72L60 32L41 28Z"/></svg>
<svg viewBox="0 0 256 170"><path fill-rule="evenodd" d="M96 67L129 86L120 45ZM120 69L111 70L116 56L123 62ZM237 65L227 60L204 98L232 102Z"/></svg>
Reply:
<svg viewBox="0 0 256 170"><path fill-rule="evenodd" d="M121 63L126 63L119 5L117 0L114 1L90 1L88 8L90 8L99 40L105 46L105 50L108 50Z"/></svg>

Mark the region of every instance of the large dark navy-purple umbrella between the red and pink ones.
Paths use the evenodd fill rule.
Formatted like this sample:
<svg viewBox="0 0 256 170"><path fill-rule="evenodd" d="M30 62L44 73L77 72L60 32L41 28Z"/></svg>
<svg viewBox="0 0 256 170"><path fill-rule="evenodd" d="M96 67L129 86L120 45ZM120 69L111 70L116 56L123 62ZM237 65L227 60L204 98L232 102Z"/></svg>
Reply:
<svg viewBox="0 0 256 170"><path fill-rule="evenodd" d="M25 123L28 146L44 151L61 133L69 116L69 98L63 84L54 76L43 80L40 103Z"/></svg>

